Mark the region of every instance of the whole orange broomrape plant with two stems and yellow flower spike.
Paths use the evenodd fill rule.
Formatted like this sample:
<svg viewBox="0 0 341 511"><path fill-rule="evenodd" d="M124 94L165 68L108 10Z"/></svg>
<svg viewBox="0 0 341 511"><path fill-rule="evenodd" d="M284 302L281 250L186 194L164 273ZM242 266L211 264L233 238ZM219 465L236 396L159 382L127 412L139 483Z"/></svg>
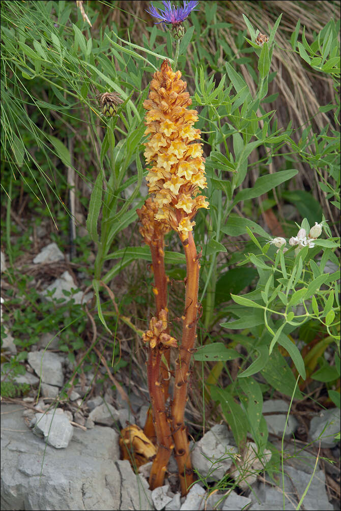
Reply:
<svg viewBox="0 0 341 511"><path fill-rule="evenodd" d="M154 194L138 212L142 221L141 234L150 246L155 287L157 316L150 321L150 329L143 340L149 343L148 386L153 408L158 451L153 462L150 487L163 483L167 462L175 444L181 492L186 494L193 482L189 445L184 412L191 355L194 352L198 317L198 279L200 254L193 239L192 221L199 208L209 204L199 190L206 187L204 158L201 144L197 142L200 130L193 125L198 119L191 105L186 82L181 73L174 73L165 60L160 72L156 72L150 84L149 99L144 102L149 135L145 157L152 167L147 181L149 193ZM164 270L164 234L174 230L183 244L186 265L186 297L183 319L183 335L177 340L169 335L167 320L167 277ZM167 366L169 350L178 348L175 361L174 395L170 419L165 406L168 393ZM162 358L165 357L166 363ZM174 440L174 444L172 441Z"/></svg>

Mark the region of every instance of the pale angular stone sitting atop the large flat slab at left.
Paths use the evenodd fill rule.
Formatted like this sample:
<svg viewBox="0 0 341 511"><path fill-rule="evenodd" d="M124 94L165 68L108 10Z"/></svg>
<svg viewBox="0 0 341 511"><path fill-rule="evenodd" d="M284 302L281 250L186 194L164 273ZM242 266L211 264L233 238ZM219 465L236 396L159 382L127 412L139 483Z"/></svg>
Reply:
<svg viewBox="0 0 341 511"><path fill-rule="evenodd" d="M69 417L64 413L36 413L31 426L35 435L43 436L56 449L65 449L74 433Z"/></svg>

